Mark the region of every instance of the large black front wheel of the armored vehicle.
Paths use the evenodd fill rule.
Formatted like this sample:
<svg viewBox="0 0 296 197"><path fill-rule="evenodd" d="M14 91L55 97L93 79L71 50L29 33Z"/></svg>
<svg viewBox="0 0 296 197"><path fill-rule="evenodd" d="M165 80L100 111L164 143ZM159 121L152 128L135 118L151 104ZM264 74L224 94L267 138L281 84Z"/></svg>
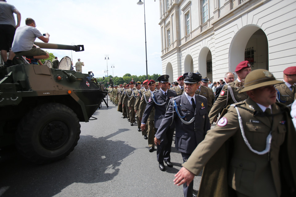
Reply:
<svg viewBox="0 0 296 197"><path fill-rule="evenodd" d="M31 110L19 123L16 147L34 163L49 163L70 154L80 138L77 115L60 103Z"/></svg>

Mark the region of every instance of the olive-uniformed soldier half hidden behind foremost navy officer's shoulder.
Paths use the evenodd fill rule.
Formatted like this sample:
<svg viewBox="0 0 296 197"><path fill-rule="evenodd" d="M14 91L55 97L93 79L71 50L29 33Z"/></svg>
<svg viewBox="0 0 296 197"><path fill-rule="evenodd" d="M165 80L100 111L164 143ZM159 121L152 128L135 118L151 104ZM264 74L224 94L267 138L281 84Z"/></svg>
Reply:
<svg viewBox="0 0 296 197"><path fill-rule="evenodd" d="M201 75L199 73L197 73L197 74L201 77ZM208 80L208 77L204 77L201 80L204 80L206 83ZM207 113L209 113L212 108L212 105L214 103L215 96L214 96L212 89L208 88L207 86L202 86L201 83L202 83L202 81L197 82L198 88L195 90L195 94L198 94L198 95L201 95L201 96L204 96L207 98L207 100L208 100Z"/></svg>

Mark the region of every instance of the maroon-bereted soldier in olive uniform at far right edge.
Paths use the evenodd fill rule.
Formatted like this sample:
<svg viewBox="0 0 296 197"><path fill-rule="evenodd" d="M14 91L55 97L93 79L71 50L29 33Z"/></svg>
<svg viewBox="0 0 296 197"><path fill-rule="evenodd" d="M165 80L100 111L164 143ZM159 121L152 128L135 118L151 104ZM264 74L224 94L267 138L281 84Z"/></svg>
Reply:
<svg viewBox="0 0 296 197"><path fill-rule="evenodd" d="M290 107L296 98L295 94L295 83L296 83L296 66L290 66L284 71L284 82L278 84L275 88L278 90L277 100L280 103L285 104L287 107Z"/></svg>

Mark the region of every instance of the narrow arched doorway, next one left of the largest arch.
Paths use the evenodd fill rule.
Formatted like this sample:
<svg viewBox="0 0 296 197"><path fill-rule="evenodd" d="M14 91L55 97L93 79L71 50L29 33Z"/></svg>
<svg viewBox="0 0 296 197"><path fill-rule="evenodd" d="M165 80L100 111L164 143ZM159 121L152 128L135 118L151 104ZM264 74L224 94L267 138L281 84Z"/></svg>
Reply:
<svg viewBox="0 0 296 197"><path fill-rule="evenodd" d="M203 77L207 76L211 81L213 81L212 53L208 47L202 48L199 52L198 69L199 73Z"/></svg>

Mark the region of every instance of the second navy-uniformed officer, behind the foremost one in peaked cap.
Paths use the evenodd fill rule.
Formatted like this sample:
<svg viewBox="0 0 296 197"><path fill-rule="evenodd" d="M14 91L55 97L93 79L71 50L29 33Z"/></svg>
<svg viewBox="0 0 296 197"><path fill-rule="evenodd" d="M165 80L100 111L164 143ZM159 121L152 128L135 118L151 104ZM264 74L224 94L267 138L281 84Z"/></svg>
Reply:
<svg viewBox="0 0 296 197"><path fill-rule="evenodd" d="M154 127L158 129L160 122L166 113L167 105L170 99L177 96L174 90L168 89L169 75L167 74L161 75L160 77L157 78L157 80L160 83L160 90L152 93L151 97L148 100L149 103L146 106L146 109L144 111L142 121L141 121L142 131L146 127L146 121L153 107L155 108ZM166 131L165 137L161 139L162 142L157 147L157 161L158 161L158 167L161 171L165 170L163 161L167 163L168 167L173 167L173 164L171 163L170 154L171 154L171 146L173 141L174 127L175 127L174 124L172 124L169 127L169 129Z"/></svg>

